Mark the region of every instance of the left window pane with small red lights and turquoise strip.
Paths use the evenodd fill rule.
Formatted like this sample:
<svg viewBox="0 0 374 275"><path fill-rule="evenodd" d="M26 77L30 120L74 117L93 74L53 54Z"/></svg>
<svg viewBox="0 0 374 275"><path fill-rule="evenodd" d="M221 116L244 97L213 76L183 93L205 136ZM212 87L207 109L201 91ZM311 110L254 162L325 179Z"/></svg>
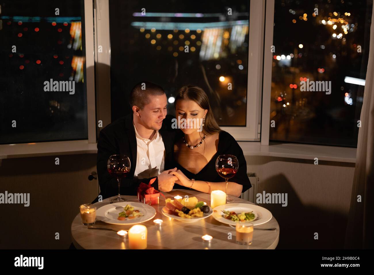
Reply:
<svg viewBox="0 0 374 275"><path fill-rule="evenodd" d="M83 0L0 4L0 143L87 139Z"/></svg>

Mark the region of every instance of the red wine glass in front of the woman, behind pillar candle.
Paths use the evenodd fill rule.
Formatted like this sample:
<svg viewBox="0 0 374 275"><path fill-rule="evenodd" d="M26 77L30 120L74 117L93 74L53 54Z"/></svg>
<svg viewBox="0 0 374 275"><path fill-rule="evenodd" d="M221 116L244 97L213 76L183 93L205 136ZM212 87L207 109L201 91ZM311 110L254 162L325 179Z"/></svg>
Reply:
<svg viewBox="0 0 374 275"><path fill-rule="evenodd" d="M234 202L234 199L227 195L227 182L232 178L239 169L239 161L233 155L220 155L215 161L215 170L218 175L226 180L226 203Z"/></svg>

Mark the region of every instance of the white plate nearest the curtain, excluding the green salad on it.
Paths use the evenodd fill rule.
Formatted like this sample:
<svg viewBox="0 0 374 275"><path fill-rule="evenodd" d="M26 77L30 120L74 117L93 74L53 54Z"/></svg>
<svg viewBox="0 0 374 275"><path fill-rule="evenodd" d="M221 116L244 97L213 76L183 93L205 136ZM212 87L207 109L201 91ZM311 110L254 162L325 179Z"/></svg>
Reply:
<svg viewBox="0 0 374 275"><path fill-rule="evenodd" d="M217 206L213 209L213 217L217 221L220 221L221 223L226 223L226 224L231 224L231 225L236 225L237 221L232 221L225 219L222 216L222 210L226 211L234 211L236 214L240 214L242 212L251 212L255 214L255 219L252 221L242 221L240 223L252 223L253 225L260 225L263 223L267 223L270 221L273 217L272 213L258 205L254 204L224 204Z"/></svg>

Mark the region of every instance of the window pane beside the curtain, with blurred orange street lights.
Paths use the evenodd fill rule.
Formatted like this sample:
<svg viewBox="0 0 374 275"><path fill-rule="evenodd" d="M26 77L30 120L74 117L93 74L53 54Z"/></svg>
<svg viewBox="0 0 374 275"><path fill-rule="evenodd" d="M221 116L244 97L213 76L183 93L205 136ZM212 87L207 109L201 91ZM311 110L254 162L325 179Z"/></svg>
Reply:
<svg viewBox="0 0 374 275"><path fill-rule="evenodd" d="M356 147L372 1L275 1L273 141Z"/></svg>

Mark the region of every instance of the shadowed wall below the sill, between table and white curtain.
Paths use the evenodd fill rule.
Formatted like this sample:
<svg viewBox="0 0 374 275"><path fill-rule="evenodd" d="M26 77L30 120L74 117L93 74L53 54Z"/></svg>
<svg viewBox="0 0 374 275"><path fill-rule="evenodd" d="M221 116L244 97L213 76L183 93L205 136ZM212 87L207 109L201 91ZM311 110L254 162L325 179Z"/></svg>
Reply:
<svg viewBox="0 0 374 275"><path fill-rule="evenodd" d="M288 205L259 204L280 227L277 248L343 248L355 164L246 156L257 193L287 193ZM314 233L318 233L318 240Z"/></svg>

